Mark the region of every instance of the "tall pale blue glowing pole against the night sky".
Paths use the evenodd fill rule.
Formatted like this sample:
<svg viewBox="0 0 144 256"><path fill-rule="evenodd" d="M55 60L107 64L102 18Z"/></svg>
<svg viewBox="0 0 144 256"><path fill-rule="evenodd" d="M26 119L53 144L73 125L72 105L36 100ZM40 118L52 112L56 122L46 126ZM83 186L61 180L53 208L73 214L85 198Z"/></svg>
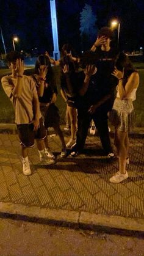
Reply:
<svg viewBox="0 0 144 256"><path fill-rule="evenodd" d="M60 59L59 52L59 40L58 40L58 32L57 32L57 14L56 14L56 2L55 0L50 0L51 7L51 24L52 24L52 37L54 43L54 59Z"/></svg>

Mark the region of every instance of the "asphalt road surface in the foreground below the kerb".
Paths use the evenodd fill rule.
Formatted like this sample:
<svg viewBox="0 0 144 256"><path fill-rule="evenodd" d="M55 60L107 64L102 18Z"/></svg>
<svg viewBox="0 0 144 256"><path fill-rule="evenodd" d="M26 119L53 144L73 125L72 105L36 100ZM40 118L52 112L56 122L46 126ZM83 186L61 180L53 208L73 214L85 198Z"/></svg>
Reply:
<svg viewBox="0 0 144 256"><path fill-rule="evenodd" d="M0 219L1 256L143 256L144 239Z"/></svg>

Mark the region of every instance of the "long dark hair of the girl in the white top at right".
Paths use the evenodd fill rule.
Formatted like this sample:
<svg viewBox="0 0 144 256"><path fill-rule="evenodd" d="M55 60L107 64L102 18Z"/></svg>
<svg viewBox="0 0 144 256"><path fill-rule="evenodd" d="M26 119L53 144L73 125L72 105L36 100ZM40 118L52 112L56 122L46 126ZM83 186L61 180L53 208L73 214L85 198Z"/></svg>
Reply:
<svg viewBox="0 0 144 256"><path fill-rule="evenodd" d="M128 55L123 52L118 54L117 60L115 62L115 67L120 71L123 71L124 68L123 85L126 84L131 73L137 72L137 70L135 70L134 66L132 65L132 62L129 59Z"/></svg>

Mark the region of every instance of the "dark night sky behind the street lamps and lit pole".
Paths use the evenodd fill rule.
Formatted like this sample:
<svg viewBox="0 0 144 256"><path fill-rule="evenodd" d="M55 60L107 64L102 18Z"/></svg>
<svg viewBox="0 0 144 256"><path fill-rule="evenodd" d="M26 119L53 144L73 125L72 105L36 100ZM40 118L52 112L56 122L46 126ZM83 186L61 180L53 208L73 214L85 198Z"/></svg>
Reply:
<svg viewBox="0 0 144 256"><path fill-rule="evenodd" d="M80 36L80 12L84 5L92 6L96 16L96 29L110 26L112 18L120 21L120 48L124 51L144 47L144 2L143 0L56 0L59 48L71 43L76 51L82 49ZM7 51L13 49L12 37L20 42L16 49L27 53L53 51L50 4L48 0L0 0L0 25ZM114 31L117 40L117 29ZM87 47L92 45L90 40ZM36 48L36 49L35 49ZM4 49L0 37L0 54Z"/></svg>

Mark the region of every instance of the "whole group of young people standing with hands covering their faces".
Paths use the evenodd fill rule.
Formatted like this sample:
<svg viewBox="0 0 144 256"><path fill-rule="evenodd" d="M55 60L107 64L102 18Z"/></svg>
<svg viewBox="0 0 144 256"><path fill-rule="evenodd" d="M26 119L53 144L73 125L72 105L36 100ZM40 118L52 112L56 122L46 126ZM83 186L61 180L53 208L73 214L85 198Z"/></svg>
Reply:
<svg viewBox="0 0 144 256"><path fill-rule="evenodd" d="M41 54L32 76L24 75L24 62L20 53L7 54L12 74L2 78L2 87L15 108L25 175L31 175L27 149L34 146L34 139L37 141L40 161L45 164L55 163L55 156L48 145L48 127L53 127L60 138L60 156L67 156L67 148L71 148L70 156L74 157L84 148L93 120L104 153L113 158L109 118L115 126L119 161L119 170L110 178L110 182L119 183L128 178L128 132L135 122L132 101L139 86L139 73L126 54L118 53L110 46L111 40L111 29L103 27L92 48L81 57L73 56L68 44L63 45L60 60L51 59L48 52ZM60 92L67 103L71 125L71 139L67 144L60 129L59 109L55 104L57 87L51 64L59 65L61 70Z"/></svg>

